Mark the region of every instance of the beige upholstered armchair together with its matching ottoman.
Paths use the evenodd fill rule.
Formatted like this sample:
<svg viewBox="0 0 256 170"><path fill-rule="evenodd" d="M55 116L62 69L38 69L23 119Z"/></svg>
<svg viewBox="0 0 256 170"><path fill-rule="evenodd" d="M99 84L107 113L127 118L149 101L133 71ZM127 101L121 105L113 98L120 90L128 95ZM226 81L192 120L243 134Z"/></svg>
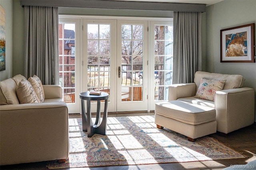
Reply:
<svg viewBox="0 0 256 170"><path fill-rule="evenodd" d="M200 87L202 78L225 80L222 90L216 91L213 100L200 99L195 97ZM243 87L244 77L242 75L226 75L219 73L208 73L197 71L195 73L194 83L174 84L169 87L169 103L156 103L155 123L158 128L166 127L191 138L198 138L207 134L214 133L214 110L216 111L216 130L225 134L254 123L255 112L255 91L252 88ZM178 104L176 105L175 101ZM175 108L176 107L176 108ZM179 108L178 108L179 107ZM196 117L199 114L187 114L192 112L188 107L200 110L204 118ZM214 110L209 110L212 108ZM178 109L177 109L178 108ZM183 113L180 112L185 109ZM172 113L175 112L175 113ZM209 114L211 112L211 115ZM199 113L199 112L198 112ZM178 115L180 114L180 115ZM195 120L205 121L202 123ZM189 122L190 121L190 122ZM212 123L212 125L205 123ZM191 130L193 125L202 126ZM211 127L210 127L210 126ZM207 130L208 129L208 130ZM190 131L191 130L191 131ZM207 131L207 132L205 132Z"/></svg>

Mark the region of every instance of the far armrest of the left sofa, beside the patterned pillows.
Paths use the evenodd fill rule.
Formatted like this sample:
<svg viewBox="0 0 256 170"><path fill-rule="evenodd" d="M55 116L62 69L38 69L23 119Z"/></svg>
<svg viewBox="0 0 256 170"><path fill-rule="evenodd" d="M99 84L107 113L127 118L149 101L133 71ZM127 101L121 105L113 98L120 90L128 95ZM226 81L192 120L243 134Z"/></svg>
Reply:
<svg viewBox="0 0 256 170"><path fill-rule="evenodd" d="M62 98L62 87L60 85L43 85L45 99Z"/></svg>

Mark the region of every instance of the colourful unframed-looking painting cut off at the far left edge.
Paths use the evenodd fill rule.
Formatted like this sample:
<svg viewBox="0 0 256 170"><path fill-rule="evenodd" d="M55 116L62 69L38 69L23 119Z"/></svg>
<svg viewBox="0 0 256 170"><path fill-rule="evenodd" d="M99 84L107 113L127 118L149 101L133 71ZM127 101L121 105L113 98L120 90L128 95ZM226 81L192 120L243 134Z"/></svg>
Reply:
<svg viewBox="0 0 256 170"><path fill-rule="evenodd" d="M0 5L0 71L5 70L5 9Z"/></svg>

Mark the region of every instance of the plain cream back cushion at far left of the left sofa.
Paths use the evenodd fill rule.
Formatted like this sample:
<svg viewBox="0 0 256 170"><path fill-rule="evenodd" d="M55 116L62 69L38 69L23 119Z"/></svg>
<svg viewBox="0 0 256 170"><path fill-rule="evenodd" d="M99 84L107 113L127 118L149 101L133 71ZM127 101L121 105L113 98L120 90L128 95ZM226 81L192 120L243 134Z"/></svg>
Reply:
<svg viewBox="0 0 256 170"><path fill-rule="evenodd" d="M16 96L16 83L10 78L0 82L0 104L11 105L19 104Z"/></svg>

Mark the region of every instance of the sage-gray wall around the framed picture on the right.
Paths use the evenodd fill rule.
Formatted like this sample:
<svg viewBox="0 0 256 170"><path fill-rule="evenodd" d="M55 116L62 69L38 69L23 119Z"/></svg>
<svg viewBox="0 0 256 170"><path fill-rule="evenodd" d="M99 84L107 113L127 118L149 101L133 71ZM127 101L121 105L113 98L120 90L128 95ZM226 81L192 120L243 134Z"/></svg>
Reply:
<svg viewBox="0 0 256 170"><path fill-rule="evenodd" d="M256 0L224 0L206 7L204 50L206 71L243 75L244 86L256 89L256 63L220 63L220 30L251 23L256 23Z"/></svg>

